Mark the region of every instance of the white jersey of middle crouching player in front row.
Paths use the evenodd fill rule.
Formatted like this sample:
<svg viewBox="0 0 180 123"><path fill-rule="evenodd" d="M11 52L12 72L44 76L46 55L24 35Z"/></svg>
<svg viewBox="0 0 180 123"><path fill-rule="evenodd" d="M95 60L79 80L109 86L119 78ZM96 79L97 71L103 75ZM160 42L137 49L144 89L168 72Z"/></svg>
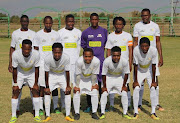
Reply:
<svg viewBox="0 0 180 123"><path fill-rule="evenodd" d="M100 61L96 56L90 64L84 62L83 56L79 57L76 62L76 75L82 75L84 78L90 78L92 74L99 74Z"/></svg>

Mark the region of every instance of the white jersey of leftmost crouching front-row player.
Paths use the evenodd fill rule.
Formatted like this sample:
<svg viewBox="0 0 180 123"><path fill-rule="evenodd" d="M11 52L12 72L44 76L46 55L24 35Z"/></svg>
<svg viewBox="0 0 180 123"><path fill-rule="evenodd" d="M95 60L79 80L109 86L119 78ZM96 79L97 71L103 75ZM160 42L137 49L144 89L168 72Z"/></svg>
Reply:
<svg viewBox="0 0 180 123"><path fill-rule="evenodd" d="M39 67L39 57L36 50L32 50L28 57L24 57L22 49L19 49L12 54L12 66L22 74L30 74L35 71L35 67Z"/></svg>

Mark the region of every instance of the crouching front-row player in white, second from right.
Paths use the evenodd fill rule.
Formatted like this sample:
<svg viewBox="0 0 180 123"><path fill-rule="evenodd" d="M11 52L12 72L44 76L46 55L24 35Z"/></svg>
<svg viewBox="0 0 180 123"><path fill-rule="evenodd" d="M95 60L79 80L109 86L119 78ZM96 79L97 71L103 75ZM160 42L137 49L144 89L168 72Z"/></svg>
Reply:
<svg viewBox="0 0 180 123"><path fill-rule="evenodd" d="M121 48L115 46L111 49L111 56L107 57L103 63L102 77L103 87L101 95L101 117L105 118L105 107L107 104L108 94L116 90L122 96L123 117L131 119L127 114L128 96L127 96L127 79L129 71L128 60L121 57Z"/></svg>

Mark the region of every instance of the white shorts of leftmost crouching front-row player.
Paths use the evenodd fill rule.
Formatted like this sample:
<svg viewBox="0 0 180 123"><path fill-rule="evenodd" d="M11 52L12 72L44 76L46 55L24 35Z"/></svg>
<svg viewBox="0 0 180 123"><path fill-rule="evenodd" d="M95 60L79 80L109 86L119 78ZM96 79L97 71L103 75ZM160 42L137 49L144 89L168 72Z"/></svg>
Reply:
<svg viewBox="0 0 180 123"><path fill-rule="evenodd" d="M24 84L28 85L30 88L33 88L35 83L35 73L22 74L17 72L17 84L19 89L22 88ZM14 85L14 82L13 82Z"/></svg>

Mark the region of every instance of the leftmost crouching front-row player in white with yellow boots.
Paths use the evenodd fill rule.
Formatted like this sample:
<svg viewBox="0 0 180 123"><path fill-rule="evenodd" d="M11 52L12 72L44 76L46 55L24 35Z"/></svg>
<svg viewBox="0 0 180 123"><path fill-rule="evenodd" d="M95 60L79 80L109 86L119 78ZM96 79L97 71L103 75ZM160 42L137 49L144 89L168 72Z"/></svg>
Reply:
<svg viewBox="0 0 180 123"><path fill-rule="evenodd" d="M12 87L12 118L9 123L15 123L17 120L16 110L18 96L23 87L24 81L29 85L33 94L33 105L35 108L34 120L41 122L39 117L39 53L32 50L32 42L28 39L23 40L22 49L16 50L12 54L13 67L13 87Z"/></svg>

